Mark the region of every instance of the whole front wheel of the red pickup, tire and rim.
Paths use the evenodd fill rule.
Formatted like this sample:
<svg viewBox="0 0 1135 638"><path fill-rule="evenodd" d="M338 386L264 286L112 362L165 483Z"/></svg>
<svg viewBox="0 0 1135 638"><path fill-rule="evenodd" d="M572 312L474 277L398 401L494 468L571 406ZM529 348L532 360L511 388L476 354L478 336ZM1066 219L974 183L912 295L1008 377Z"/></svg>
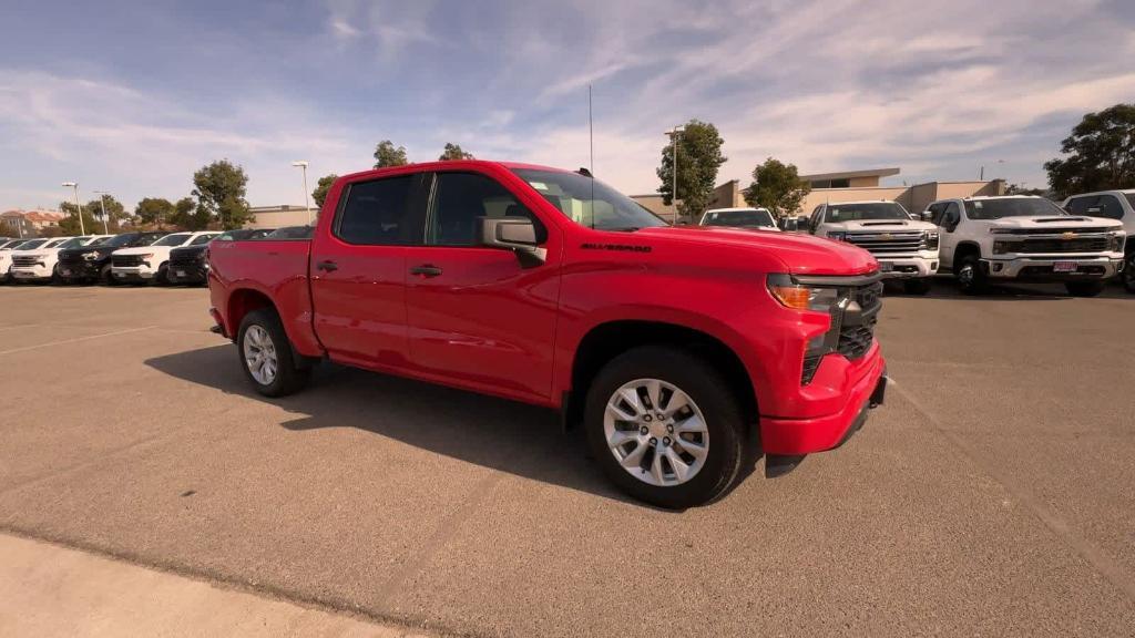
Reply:
<svg viewBox="0 0 1135 638"><path fill-rule="evenodd" d="M745 419L721 373L666 346L630 350L588 389L588 445L623 492L669 509L721 495L745 459Z"/></svg>

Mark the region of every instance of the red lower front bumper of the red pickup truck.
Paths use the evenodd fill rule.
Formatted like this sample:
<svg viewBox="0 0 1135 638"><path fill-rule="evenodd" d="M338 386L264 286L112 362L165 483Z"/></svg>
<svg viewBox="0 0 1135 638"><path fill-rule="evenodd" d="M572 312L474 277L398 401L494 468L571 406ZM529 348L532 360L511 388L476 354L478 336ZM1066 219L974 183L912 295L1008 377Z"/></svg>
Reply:
<svg viewBox="0 0 1135 638"><path fill-rule="evenodd" d="M765 454L801 455L842 445L866 421L866 411L882 405L885 398L886 363L877 352L876 346L866 373L850 387L847 400L838 411L809 419L762 417L762 451Z"/></svg>

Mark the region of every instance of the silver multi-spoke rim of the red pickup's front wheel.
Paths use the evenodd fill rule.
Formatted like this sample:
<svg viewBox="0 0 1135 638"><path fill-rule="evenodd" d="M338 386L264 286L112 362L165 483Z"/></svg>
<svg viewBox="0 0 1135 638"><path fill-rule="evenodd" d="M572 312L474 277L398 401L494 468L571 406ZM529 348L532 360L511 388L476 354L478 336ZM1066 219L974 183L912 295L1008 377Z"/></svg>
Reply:
<svg viewBox="0 0 1135 638"><path fill-rule="evenodd" d="M705 415L678 386L634 379L607 400L603 417L607 447L636 479L673 487L693 479L709 454Z"/></svg>

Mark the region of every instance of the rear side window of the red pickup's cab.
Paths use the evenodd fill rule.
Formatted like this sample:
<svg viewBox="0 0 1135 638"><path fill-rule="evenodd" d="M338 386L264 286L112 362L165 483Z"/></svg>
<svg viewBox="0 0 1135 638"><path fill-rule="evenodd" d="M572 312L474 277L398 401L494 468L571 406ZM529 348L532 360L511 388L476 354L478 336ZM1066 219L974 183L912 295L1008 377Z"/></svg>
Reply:
<svg viewBox="0 0 1135 638"><path fill-rule="evenodd" d="M414 175L350 185L335 235L350 244L405 245L414 242L410 193Z"/></svg>

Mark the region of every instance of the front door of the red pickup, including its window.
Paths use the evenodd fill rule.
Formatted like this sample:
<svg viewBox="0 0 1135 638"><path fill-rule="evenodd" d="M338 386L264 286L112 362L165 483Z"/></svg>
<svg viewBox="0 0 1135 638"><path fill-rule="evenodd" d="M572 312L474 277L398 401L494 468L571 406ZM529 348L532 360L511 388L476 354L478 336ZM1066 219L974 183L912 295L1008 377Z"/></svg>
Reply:
<svg viewBox="0 0 1135 638"><path fill-rule="evenodd" d="M415 372L511 398L544 402L560 289L558 236L486 173L427 178L424 244L406 247L406 312ZM527 217L543 233L547 261L522 263L478 244L481 217Z"/></svg>

